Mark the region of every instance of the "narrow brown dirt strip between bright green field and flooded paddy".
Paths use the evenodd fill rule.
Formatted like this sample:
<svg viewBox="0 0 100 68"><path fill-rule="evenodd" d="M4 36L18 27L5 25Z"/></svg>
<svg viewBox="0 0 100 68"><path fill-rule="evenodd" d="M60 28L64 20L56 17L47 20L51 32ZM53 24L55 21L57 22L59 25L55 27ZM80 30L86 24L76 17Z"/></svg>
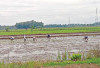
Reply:
<svg viewBox="0 0 100 68"><path fill-rule="evenodd" d="M88 32L88 33L63 33L63 34L50 34L51 37L67 37L67 36L95 36L100 35L100 32ZM22 39L24 35L0 35L0 39L10 39L11 36L14 36L15 39ZM47 34L32 34L26 35L26 38L45 38Z"/></svg>

